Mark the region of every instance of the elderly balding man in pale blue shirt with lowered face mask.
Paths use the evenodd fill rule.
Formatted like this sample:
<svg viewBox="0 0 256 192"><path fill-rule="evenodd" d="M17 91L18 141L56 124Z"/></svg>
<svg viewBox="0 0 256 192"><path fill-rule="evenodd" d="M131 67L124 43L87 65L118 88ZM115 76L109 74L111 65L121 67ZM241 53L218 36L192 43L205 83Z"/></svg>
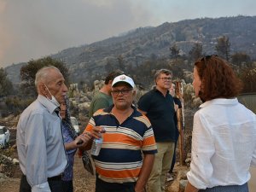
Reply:
<svg viewBox="0 0 256 192"><path fill-rule="evenodd" d="M36 74L38 98L20 115L17 148L20 192L61 192L61 173L67 166L59 106L67 93L65 79L56 67ZM84 143L86 139L82 138Z"/></svg>

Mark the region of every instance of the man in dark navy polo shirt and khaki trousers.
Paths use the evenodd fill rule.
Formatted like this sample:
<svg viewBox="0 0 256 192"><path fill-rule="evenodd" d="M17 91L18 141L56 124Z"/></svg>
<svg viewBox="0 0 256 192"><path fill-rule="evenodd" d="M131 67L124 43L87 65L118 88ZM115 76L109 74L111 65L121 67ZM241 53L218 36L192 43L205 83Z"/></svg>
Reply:
<svg viewBox="0 0 256 192"><path fill-rule="evenodd" d="M175 146L174 102L169 94L172 86L172 72L160 69L154 75L155 89L143 95L138 109L150 120L158 153L155 155L153 170L148 178L149 192L164 192L166 173L169 171Z"/></svg>

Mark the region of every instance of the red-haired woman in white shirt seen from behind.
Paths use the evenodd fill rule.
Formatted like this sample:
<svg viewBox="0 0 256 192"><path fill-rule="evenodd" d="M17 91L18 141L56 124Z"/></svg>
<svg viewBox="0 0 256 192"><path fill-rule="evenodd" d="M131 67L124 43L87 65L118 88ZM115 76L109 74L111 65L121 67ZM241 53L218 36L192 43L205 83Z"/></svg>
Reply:
<svg viewBox="0 0 256 192"><path fill-rule="evenodd" d="M255 114L237 101L241 82L216 55L195 61L192 161L185 192L247 192L249 166L256 166Z"/></svg>

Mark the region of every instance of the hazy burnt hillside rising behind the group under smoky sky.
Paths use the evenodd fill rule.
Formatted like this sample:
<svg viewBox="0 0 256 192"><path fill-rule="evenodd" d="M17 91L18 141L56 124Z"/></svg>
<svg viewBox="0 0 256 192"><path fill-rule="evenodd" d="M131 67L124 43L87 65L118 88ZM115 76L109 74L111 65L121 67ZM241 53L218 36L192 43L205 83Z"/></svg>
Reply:
<svg viewBox="0 0 256 192"><path fill-rule="evenodd" d="M119 55L126 66L137 66L152 56L168 57L169 48L174 43L184 55L189 53L195 43L203 45L204 53L214 54L217 38L223 35L230 38L231 54L243 51L255 59L256 16L166 22L156 27L137 28L93 44L64 49L51 56L67 63L73 82L91 82L96 76L102 76L107 63L116 68ZM6 67L9 79L14 83L19 82L22 65L24 63Z"/></svg>

